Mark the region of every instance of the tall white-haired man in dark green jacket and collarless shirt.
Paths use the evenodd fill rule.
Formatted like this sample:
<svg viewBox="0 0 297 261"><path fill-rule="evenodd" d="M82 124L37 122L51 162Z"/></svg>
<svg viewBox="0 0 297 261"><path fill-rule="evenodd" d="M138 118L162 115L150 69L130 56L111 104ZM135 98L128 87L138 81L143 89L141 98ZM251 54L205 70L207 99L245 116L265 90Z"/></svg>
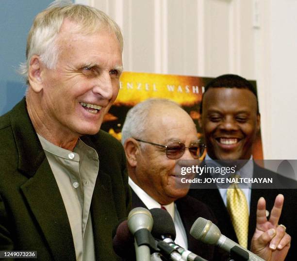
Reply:
<svg viewBox="0 0 297 261"><path fill-rule="evenodd" d="M28 89L0 117L0 250L117 260L112 230L131 207L125 154L100 126L119 90L123 39L96 8L39 13L22 66Z"/></svg>

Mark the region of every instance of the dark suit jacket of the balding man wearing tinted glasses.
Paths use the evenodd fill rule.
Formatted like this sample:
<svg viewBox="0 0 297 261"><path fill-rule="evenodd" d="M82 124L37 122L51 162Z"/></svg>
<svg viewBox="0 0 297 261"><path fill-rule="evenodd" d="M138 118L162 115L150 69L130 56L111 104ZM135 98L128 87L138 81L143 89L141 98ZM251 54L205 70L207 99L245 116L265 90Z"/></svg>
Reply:
<svg viewBox="0 0 297 261"><path fill-rule="evenodd" d="M132 191L132 207L147 208L141 199ZM209 261L226 261L229 255L217 249L214 245L206 245L190 235L190 229L198 217L204 217L216 224L213 212L202 202L191 196L185 196L175 201L181 216L182 224L188 239L188 249Z"/></svg>

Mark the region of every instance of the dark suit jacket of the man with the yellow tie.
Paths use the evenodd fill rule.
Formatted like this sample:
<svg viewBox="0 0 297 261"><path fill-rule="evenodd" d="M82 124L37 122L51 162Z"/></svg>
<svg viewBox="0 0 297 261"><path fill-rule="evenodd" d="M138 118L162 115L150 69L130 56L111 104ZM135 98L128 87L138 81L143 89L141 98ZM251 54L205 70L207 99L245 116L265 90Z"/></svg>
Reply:
<svg viewBox="0 0 297 261"><path fill-rule="evenodd" d="M206 177L207 174L205 174ZM210 177L210 175L209 175ZM276 173L264 169L254 163L254 173L253 177L278 177L283 183L287 183L286 178L277 175ZM292 180L293 181L293 180ZM294 182L294 181L293 181ZM223 235L229 237L233 241L238 243L234 228L231 223L230 215L225 207L223 199L217 189L216 185L212 185L212 189L190 189L189 195L193 196L205 204L207 204L211 210L214 212L216 219L218 220L217 226L220 228ZM251 190L250 198L250 214L249 214L249 224L248 224L248 249L250 248L251 238L255 232L256 228L256 211L258 199L263 196L266 200L266 209L270 212L273 205L275 197L278 194L284 195L284 205L281 213L281 219L279 224L283 224L287 227L287 232L292 236L291 249L289 250L286 260L296 261L297 251L296 251L296 237L297 237L297 190L294 189L253 189Z"/></svg>

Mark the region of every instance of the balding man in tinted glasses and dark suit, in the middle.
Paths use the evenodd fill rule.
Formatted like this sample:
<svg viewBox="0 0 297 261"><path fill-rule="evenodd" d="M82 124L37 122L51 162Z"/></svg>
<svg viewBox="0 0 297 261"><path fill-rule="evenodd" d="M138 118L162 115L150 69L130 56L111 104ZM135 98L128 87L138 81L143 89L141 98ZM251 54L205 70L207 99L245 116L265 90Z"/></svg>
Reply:
<svg viewBox="0 0 297 261"><path fill-rule="evenodd" d="M192 224L200 216L216 223L204 203L187 196L189 187L179 186L184 176L176 168L178 160L199 159L204 151L189 114L167 99L141 102L127 114L122 144L127 156L132 206L164 208L174 220L178 245L210 261L228 260L227 253L189 235ZM270 241L266 237L253 243L257 249L263 249L265 240Z"/></svg>

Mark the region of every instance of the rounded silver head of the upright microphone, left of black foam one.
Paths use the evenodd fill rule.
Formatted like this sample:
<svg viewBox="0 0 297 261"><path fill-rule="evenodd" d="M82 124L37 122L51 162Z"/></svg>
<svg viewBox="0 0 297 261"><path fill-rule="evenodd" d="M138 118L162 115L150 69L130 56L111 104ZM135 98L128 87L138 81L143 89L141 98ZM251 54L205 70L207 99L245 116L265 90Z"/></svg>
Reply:
<svg viewBox="0 0 297 261"><path fill-rule="evenodd" d="M153 222L151 213L145 208L134 208L129 212L128 227L132 234L142 228L151 231Z"/></svg>

